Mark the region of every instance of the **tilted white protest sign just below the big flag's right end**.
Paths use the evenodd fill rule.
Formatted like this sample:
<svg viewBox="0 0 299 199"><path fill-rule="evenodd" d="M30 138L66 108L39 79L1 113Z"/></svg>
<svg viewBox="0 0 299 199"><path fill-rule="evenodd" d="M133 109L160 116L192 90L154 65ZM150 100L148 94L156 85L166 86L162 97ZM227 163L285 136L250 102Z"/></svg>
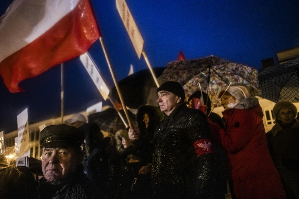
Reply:
<svg viewBox="0 0 299 199"><path fill-rule="evenodd" d="M104 82L102 76L100 75L100 72L98 71L90 55L86 52L80 56L80 60L84 65L86 71L88 72L89 76L91 77L92 81L96 85L97 89L100 91L100 94L102 95L104 100L106 100L110 92L109 88Z"/></svg>

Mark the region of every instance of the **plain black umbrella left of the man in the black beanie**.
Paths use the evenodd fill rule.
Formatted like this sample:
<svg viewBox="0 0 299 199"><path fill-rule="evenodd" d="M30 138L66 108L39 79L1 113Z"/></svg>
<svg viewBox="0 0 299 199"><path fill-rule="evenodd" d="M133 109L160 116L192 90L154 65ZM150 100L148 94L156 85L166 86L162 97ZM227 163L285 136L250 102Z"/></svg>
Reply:
<svg viewBox="0 0 299 199"><path fill-rule="evenodd" d="M164 69L164 67L157 67L153 68L153 71L158 77L162 74ZM138 71L120 80L118 82L118 87L126 106L135 109L139 108L141 105L152 104L148 102L148 96L152 93L151 90L156 90L157 88L149 69ZM112 97L120 102L115 87L112 88L111 93Z"/></svg>

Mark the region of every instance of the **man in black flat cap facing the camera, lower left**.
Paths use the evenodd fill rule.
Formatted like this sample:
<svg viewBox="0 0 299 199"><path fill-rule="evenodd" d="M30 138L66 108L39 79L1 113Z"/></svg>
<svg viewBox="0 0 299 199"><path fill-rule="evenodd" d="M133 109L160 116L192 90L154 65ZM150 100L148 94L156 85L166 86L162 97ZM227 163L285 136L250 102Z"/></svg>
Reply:
<svg viewBox="0 0 299 199"><path fill-rule="evenodd" d="M41 198L103 198L83 173L83 132L65 124L50 125L40 132L42 172Z"/></svg>

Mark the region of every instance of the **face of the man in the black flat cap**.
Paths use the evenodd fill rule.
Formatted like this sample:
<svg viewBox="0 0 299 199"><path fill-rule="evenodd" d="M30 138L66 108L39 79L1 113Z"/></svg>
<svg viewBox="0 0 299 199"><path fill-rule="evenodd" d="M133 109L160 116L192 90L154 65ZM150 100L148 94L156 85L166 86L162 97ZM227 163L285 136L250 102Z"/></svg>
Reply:
<svg viewBox="0 0 299 199"><path fill-rule="evenodd" d="M73 147L43 148L42 173L49 182L64 179L81 163L81 154L78 154Z"/></svg>

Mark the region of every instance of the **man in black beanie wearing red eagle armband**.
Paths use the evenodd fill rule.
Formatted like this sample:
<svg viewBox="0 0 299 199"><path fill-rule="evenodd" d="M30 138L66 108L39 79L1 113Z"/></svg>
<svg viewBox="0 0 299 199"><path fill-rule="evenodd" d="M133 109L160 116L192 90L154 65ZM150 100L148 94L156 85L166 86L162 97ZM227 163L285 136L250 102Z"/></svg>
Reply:
<svg viewBox="0 0 299 199"><path fill-rule="evenodd" d="M152 145L154 198L213 198L216 157L205 114L187 108L178 82L165 82L157 94L164 119L153 140L138 149ZM134 146L139 132L130 128L129 137Z"/></svg>

